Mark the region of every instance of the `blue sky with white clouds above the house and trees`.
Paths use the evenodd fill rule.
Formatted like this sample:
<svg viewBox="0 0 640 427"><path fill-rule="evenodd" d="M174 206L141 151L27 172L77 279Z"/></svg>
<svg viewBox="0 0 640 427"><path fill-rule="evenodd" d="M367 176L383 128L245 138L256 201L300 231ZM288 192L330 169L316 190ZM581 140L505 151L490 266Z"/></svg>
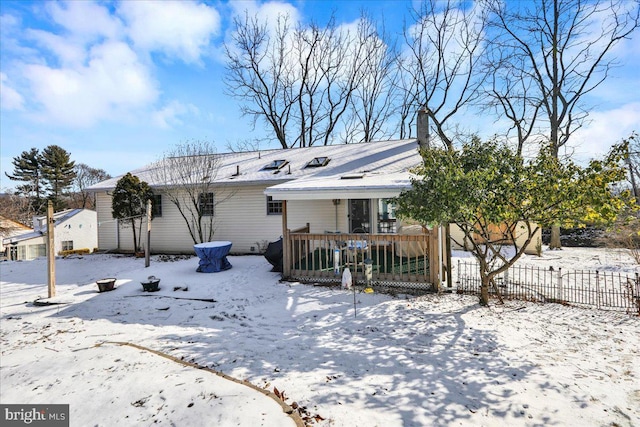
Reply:
<svg viewBox="0 0 640 427"><path fill-rule="evenodd" d="M112 176L157 160L176 144L207 140L218 152L265 136L225 93L223 44L245 11L275 19L353 24L366 10L398 36L412 1L0 1L0 188L30 148L59 145L76 163ZM640 130L640 37L621 43L620 66L590 96L590 122L574 138L597 156ZM490 121L465 118L492 134ZM277 148L277 144L260 148Z"/></svg>

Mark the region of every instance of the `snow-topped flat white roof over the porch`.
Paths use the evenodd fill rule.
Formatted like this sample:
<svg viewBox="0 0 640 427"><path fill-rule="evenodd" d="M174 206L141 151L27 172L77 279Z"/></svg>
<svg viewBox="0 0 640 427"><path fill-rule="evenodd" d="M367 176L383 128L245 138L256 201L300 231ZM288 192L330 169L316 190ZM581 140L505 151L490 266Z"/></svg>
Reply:
<svg viewBox="0 0 640 427"><path fill-rule="evenodd" d="M313 176L271 186L265 194L275 200L385 199L411 188L410 178L408 171Z"/></svg>

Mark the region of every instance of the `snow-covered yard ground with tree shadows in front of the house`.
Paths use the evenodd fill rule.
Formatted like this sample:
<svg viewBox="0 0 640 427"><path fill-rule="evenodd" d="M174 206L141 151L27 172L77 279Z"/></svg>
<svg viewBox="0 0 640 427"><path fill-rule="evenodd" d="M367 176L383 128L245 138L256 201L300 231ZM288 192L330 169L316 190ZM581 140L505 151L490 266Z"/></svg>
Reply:
<svg viewBox="0 0 640 427"><path fill-rule="evenodd" d="M0 402L69 404L71 426L295 425L277 399L184 361L275 388L318 426L640 425L638 317L455 294L357 293L354 313L353 292L229 260L203 274L195 257L58 259L48 306L33 304L46 260L0 264ZM521 263L637 269L593 249ZM159 292L142 292L150 275ZM98 293L105 277L117 288Z"/></svg>

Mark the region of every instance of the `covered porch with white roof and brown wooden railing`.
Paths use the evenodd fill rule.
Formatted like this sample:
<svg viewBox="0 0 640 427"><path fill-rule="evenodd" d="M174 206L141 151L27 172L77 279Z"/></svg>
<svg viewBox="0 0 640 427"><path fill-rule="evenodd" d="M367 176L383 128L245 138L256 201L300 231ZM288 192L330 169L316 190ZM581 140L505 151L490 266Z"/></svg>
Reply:
<svg viewBox="0 0 640 427"><path fill-rule="evenodd" d="M403 223L390 202L410 185L408 174L365 178L295 181L265 191L282 203L283 278L340 283L349 268L360 285L370 264L374 286L437 289L446 267L441 227Z"/></svg>

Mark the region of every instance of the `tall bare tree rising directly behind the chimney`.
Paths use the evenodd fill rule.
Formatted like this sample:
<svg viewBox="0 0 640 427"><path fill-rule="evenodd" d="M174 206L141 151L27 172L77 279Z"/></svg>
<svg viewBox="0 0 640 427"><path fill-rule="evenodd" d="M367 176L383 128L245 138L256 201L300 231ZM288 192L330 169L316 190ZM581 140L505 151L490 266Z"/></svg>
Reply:
<svg viewBox="0 0 640 427"><path fill-rule="evenodd" d="M398 66L407 93L401 106L402 127L411 113L424 109L438 139L453 149L453 117L478 94L483 74L478 73L483 54L485 19L482 8L465 2L424 0L405 25L405 51ZM408 110L410 103L413 111ZM401 133L404 133L401 131ZM410 133L409 133L410 134Z"/></svg>

